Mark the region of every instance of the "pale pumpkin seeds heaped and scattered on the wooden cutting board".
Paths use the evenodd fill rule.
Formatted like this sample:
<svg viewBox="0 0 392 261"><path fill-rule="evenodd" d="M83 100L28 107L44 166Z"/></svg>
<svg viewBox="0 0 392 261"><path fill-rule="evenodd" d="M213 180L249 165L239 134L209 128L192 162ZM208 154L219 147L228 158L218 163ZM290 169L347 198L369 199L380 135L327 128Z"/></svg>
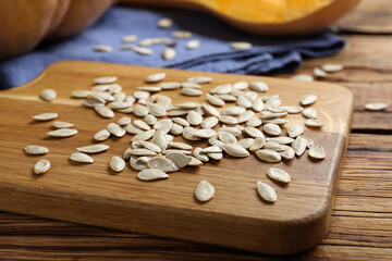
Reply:
<svg viewBox="0 0 392 261"><path fill-rule="evenodd" d="M320 129L323 123L317 120L317 111L311 108L318 97L309 94L298 104L283 105L279 95L267 95L269 87L262 82L237 82L218 85L206 94L203 103L192 101L173 104L166 90L179 90L183 96L204 95L203 85L210 84L211 77L195 76L183 83L163 82L166 73L156 73L145 78L145 86L126 95L117 84L118 77L105 76L95 78L91 90L76 90L72 98L83 99L83 105L96 111L103 119L112 119L115 113L133 114L111 122L107 128L94 135L97 141L105 141L110 136L121 138L132 135L131 146L122 156L113 156L109 166L113 172L125 169L125 160L131 167L139 171L137 178L143 182L169 178L168 173L181 171L185 166L199 166L208 161L219 161L224 156L246 158L252 153L266 163L277 163L282 159L294 160L306 151L314 160L326 158L321 145L315 144L303 135L305 127ZM44 90L40 97L50 102L56 98L54 90ZM223 107L225 105L225 107ZM302 114L304 125L290 124L289 114ZM59 115L47 112L33 116L36 121L50 121ZM218 126L219 124L219 126ZM77 134L75 125L68 122L53 122L57 130L47 135L58 138ZM282 129L286 127L286 136ZM267 136L266 136L267 135ZM175 136L185 140L206 140L207 146L194 147L187 142L174 141ZM241 138L245 137L245 138ZM108 145L96 144L76 148L70 156L71 161L94 163L91 154L107 151ZM49 149L41 146L24 148L29 154L45 154ZM44 174L50 162L40 160L34 172ZM270 167L267 177L278 183L290 183L287 172ZM277 200L275 190L267 182L258 181L255 185L260 197L269 202ZM198 201L210 200L215 187L201 181L195 189Z"/></svg>

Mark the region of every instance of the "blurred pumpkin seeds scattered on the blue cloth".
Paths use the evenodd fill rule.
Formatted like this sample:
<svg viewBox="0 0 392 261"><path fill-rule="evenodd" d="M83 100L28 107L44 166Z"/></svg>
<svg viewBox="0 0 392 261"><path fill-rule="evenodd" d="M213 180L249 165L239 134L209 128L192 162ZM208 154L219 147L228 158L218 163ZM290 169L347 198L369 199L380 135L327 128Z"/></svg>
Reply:
<svg viewBox="0 0 392 261"><path fill-rule="evenodd" d="M170 29L173 25L173 21L168 17L163 17L158 21L157 25L161 29ZM192 39L193 34L188 30L173 30L171 32L170 37L155 37L155 38L145 38L139 40L137 45L135 42L137 41L136 35L126 35L122 37L122 42L124 45L119 47L120 51L133 51L135 53L138 53L140 55L151 55L154 53L154 50L149 47L151 46L166 46L166 48L162 51L162 58L167 61L173 60L176 55L175 46L179 44L179 40L186 39L186 49L193 50L200 47L200 41L197 39ZM230 44L230 47L233 50L248 50L253 46L250 42L246 41L235 41ZM94 51L97 52L112 52L113 48L106 45L97 45L93 47Z"/></svg>

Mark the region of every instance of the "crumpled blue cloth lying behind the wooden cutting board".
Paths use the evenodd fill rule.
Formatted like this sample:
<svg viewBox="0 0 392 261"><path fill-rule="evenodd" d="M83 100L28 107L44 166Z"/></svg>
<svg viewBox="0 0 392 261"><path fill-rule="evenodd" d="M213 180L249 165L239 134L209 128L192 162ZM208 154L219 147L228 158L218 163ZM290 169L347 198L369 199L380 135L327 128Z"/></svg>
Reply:
<svg viewBox="0 0 392 261"><path fill-rule="evenodd" d="M171 17L174 25L157 27L161 17ZM175 47L171 61L161 58L164 46L152 46L152 55L120 51L121 38L137 35L138 39L170 37L172 30L189 30L200 41L198 49L186 49L185 39ZM253 48L235 51L233 41L249 41ZM95 45L108 45L112 52L93 51ZM207 14L177 10L147 10L111 8L94 26L82 34L59 42L41 45L36 50L0 63L0 88L11 88L34 79L45 67L59 60L89 60L158 67L176 67L234 74L266 74L293 72L303 58L317 58L336 53L344 40L331 32L306 38L271 39L240 32Z"/></svg>

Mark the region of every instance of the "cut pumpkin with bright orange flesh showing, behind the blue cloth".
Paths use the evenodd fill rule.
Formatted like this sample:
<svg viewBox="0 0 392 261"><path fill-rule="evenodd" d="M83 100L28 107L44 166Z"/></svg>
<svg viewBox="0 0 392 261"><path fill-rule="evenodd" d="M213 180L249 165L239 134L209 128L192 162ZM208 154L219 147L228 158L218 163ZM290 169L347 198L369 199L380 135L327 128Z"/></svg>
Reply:
<svg viewBox="0 0 392 261"><path fill-rule="evenodd" d="M252 34L309 35L327 28L359 0L119 0L125 5L206 11Z"/></svg>

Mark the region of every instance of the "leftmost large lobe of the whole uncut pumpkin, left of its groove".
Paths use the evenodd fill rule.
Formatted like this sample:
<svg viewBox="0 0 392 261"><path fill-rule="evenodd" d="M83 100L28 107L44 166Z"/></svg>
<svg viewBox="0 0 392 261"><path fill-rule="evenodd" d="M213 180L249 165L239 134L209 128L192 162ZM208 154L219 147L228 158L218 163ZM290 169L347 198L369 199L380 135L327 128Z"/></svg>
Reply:
<svg viewBox="0 0 392 261"><path fill-rule="evenodd" d="M34 49L49 28L58 0L11 0L0 5L0 60Z"/></svg>

